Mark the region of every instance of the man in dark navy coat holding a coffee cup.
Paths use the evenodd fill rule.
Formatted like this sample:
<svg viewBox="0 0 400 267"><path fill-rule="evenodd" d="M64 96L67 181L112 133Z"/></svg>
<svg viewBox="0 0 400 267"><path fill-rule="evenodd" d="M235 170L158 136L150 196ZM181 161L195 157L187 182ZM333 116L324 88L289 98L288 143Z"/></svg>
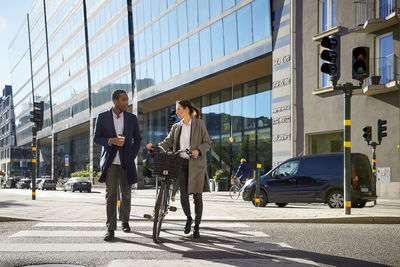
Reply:
<svg viewBox="0 0 400 267"><path fill-rule="evenodd" d="M107 233L105 241L114 238L117 228L117 187L122 194L119 219L122 230L130 232L131 187L137 183L135 158L140 148L137 117L127 112L128 95L124 90L112 93L114 107L97 116L93 141L101 145L99 182L106 183Z"/></svg>

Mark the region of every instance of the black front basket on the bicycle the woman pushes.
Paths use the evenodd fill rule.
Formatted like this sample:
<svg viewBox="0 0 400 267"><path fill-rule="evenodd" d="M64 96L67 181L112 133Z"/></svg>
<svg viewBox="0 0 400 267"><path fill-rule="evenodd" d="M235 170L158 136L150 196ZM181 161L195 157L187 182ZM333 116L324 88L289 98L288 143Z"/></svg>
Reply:
<svg viewBox="0 0 400 267"><path fill-rule="evenodd" d="M178 155L154 153L153 174L177 179L182 176L184 159Z"/></svg>

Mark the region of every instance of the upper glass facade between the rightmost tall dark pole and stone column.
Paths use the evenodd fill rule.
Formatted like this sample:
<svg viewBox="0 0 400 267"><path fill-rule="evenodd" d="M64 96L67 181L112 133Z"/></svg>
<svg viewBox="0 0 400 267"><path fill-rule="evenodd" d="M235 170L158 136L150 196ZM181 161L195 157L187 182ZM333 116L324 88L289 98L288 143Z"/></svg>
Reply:
<svg viewBox="0 0 400 267"><path fill-rule="evenodd" d="M139 0L133 4L137 90L271 36L270 1L254 0L239 8L241 2L186 0L166 5L166 0ZM153 12L146 12L147 8ZM219 19L210 24L216 16Z"/></svg>

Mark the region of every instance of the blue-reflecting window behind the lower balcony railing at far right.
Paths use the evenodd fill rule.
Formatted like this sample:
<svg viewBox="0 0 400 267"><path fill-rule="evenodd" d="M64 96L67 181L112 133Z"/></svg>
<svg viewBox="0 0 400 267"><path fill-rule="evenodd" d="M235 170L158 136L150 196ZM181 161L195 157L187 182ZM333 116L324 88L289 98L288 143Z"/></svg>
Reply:
<svg viewBox="0 0 400 267"><path fill-rule="evenodd" d="M394 80L393 33L378 37L378 68L381 83Z"/></svg>

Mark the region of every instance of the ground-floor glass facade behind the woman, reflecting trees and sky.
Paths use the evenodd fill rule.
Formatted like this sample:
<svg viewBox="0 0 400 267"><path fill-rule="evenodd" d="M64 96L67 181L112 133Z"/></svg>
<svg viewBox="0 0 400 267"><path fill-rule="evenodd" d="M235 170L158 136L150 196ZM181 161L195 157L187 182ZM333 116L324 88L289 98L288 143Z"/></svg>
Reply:
<svg viewBox="0 0 400 267"><path fill-rule="evenodd" d="M237 170L240 159L246 158L253 170L262 164L262 172L272 166L272 96L271 76L225 88L192 99L201 109L212 145L208 153L210 177L218 169L230 174ZM166 135L167 110L175 105L144 114L144 144L159 143ZM235 143L230 144L229 138Z"/></svg>

